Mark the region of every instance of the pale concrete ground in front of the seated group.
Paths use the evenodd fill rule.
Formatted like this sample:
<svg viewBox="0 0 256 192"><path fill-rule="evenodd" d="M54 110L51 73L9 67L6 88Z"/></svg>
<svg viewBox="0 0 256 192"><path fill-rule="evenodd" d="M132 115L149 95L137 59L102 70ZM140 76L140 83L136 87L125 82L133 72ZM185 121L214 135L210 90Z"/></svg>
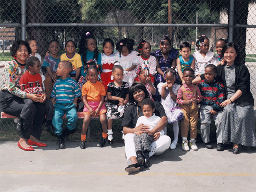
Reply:
<svg viewBox="0 0 256 192"><path fill-rule="evenodd" d="M151 191L255 191L256 150L242 149L234 155L204 148L198 151L167 150L151 157L152 166L143 172L124 171L124 145L87 142L66 142L56 150L56 142L45 148L23 151L16 141L0 141L0 191L3 192L151 192Z"/></svg>

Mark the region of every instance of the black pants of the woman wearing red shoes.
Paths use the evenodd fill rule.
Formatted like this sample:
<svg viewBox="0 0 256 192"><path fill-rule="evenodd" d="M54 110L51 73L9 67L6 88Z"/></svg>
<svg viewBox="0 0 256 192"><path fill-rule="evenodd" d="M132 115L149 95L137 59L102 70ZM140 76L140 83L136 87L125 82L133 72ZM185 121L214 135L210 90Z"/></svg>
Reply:
<svg viewBox="0 0 256 192"><path fill-rule="evenodd" d="M24 100L7 91L0 93L0 103L4 113L20 117L20 113L25 105ZM39 139L43 120L45 118L46 107L43 103L29 102L26 107L26 113L23 114L24 120L20 137L28 139L30 135Z"/></svg>

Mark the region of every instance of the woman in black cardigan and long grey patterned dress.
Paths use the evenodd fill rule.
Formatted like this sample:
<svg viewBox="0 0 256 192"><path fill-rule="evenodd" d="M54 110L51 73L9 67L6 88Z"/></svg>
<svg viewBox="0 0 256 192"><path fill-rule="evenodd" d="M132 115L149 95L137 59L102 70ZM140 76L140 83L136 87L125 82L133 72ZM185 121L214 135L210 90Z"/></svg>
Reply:
<svg viewBox="0 0 256 192"><path fill-rule="evenodd" d="M233 153L239 144L256 146L254 124L254 99L250 92L250 73L239 63L239 50L233 42L224 45L224 65L217 66L217 79L224 85L225 100L221 103L223 143L233 143ZM204 79L204 74L200 76Z"/></svg>

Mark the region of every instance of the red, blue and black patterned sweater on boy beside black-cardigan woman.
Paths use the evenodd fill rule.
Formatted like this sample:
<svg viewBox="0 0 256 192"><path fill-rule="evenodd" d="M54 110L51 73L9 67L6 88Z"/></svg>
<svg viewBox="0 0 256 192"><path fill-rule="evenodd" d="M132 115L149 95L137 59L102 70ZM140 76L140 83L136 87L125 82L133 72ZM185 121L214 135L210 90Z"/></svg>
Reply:
<svg viewBox="0 0 256 192"><path fill-rule="evenodd" d="M205 79L197 84L201 94L202 105L213 105L214 111L221 111L220 104L224 101L224 86L218 81L208 83Z"/></svg>

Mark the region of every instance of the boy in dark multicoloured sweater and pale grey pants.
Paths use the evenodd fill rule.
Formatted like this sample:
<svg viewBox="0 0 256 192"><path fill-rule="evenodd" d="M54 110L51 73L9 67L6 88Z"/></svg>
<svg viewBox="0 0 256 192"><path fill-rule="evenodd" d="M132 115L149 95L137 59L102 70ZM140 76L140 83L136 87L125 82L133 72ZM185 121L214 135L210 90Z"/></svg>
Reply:
<svg viewBox="0 0 256 192"><path fill-rule="evenodd" d="M217 133L217 150L223 151L221 131L222 108L220 104L224 101L224 87L221 83L215 80L215 77L217 76L216 71L217 67L215 65L207 65L204 71L205 79L200 81L197 85L202 94L202 101L200 102L200 127L204 146L211 149L210 123L211 117L213 118Z"/></svg>

